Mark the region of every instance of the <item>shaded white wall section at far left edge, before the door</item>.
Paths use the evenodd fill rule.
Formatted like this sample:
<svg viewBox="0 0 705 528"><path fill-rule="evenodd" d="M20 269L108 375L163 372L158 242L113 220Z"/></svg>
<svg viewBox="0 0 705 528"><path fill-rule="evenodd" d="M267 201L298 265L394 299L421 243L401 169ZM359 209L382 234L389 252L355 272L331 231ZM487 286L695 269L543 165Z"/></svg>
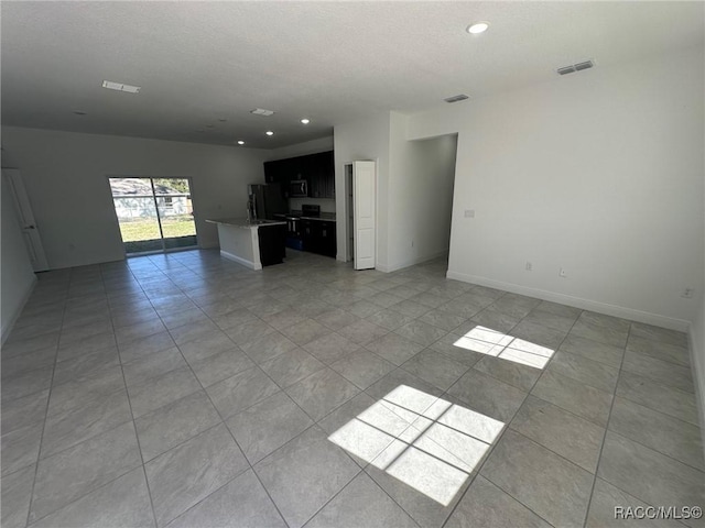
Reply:
<svg viewBox="0 0 705 528"><path fill-rule="evenodd" d="M2 277L2 295L0 296L0 320L2 324L1 342L4 342L12 324L32 293L36 277L32 271L32 264L22 238L12 191L7 178L2 176L1 179L2 226L0 243L2 244L2 251L0 252L0 276Z"/></svg>

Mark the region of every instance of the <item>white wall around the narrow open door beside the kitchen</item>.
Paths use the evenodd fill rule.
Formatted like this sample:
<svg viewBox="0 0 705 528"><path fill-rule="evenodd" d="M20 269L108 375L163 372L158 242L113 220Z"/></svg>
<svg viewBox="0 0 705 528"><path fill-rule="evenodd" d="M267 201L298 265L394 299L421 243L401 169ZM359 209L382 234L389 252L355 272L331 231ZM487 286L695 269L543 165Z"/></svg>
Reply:
<svg viewBox="0 0 705 528"><path fill-rule="evenodd" d="M352 123L335 127L335 188L336 217L339 261L347 261L347 198L345 189L345 165L357 160L372 160L377 162L377 264L378 267L388 266L388 226L389 211L389 142L390 112L382 112L375 118L367 118Z"/></svg>

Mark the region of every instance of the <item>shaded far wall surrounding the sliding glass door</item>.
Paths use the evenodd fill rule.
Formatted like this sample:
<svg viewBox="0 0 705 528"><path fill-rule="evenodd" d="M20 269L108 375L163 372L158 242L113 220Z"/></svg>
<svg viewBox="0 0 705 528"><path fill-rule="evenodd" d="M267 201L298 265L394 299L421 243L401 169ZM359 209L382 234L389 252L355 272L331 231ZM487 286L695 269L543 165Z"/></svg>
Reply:
<svg viewBox="0 0 705 528"><path fill-rule="evenodd" d="M208 218L245 217L247 184L263 183L267 151L2 128L22 170L51 268L123 258L108 176L193 178L202 248L218 245Z"/></svg>

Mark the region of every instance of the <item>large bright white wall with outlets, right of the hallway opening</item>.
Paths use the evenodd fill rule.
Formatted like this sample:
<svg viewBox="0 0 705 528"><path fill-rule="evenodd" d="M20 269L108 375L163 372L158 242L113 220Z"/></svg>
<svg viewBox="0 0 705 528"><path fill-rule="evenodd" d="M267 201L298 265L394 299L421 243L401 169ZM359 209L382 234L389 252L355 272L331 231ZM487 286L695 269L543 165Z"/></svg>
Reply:
<svg viewBox="0 0 705 528"><path fill-rule="evenodd" d="M410 139L458 132L448 276L684 330L705 286L703 92L695 48L413 116Z"/></svg>

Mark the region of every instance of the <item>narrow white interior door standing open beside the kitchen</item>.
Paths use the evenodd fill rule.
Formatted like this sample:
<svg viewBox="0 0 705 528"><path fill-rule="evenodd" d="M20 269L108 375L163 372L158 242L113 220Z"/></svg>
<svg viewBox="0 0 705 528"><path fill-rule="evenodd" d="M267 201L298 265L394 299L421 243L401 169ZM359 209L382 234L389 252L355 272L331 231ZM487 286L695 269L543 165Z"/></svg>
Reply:
<svg viewBox="0 0 705 528"><path fill-rule="evenodd" d="M352 163L355 270L375 267L377 245L377 174L375 162Z"/></svg>

